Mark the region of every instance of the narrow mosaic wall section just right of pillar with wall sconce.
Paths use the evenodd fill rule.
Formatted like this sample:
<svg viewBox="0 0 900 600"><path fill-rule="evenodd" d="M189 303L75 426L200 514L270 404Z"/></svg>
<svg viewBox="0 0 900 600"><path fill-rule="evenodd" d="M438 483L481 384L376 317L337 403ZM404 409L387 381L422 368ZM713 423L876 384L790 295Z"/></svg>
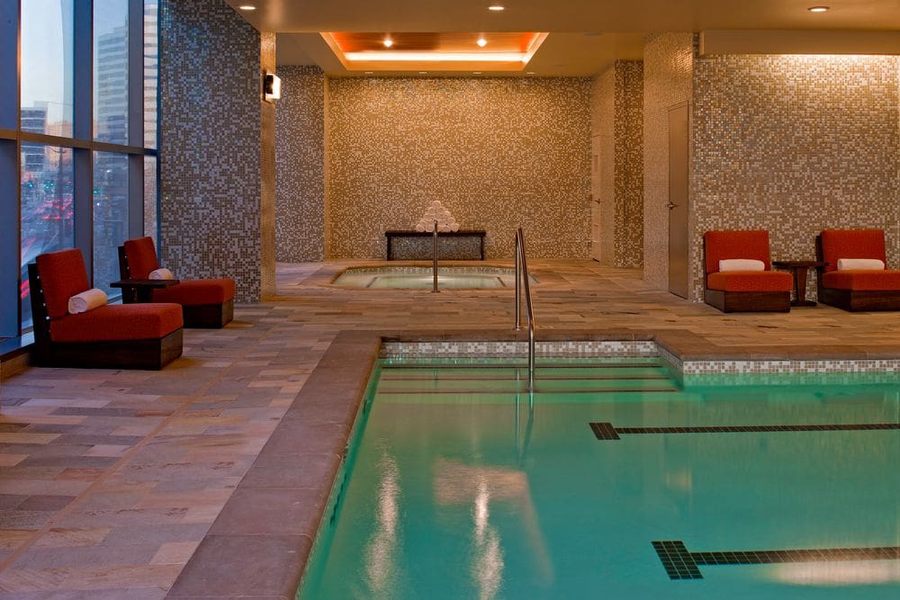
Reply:
<svg viewBox="0 0 900 600"><path fill-rule="evenodd" d="M325 75L319 67L279 67L275 147L277 258L320 261L325 255Z"/></svg>

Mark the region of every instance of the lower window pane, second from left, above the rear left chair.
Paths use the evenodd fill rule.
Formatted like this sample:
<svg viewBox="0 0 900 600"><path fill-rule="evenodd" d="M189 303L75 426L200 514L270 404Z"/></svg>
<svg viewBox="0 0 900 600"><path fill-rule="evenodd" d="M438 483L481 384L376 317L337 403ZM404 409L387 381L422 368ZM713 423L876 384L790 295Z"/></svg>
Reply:
<svg viewBox="0 0 900 600"><path fill-rule="evenodd" d="M119 295L119 246L128 239L128 155L94 152L94 287Z"/></svg>

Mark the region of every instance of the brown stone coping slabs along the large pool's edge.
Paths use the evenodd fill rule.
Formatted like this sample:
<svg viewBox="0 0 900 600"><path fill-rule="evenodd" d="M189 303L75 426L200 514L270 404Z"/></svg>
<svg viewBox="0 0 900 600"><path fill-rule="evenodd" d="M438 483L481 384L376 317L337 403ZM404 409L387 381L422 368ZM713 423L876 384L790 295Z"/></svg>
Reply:
<svg viewBox="0 0 900 600"><path fill-rule="evenodd" d="M671 329L545 329L540 342L655 342L682 363L873 361L900 365L900 345L717 346ZM526 331L342 330L238 483L167 598L293 600L384 343L525 342ZM897 367L900 372L900 366Z"/></svg>

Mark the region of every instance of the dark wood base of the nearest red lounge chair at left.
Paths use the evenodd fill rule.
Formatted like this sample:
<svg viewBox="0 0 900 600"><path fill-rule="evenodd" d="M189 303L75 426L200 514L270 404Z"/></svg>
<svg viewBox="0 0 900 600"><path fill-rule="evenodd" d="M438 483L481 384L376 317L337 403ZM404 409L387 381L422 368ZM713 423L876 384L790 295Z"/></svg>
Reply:
<svg viewBox="0 0 900 600"><path fill-rule="evenodd" d="M35 344L31 363L39 367L159 370L181 356L183 329L160 339Z"/></svg>

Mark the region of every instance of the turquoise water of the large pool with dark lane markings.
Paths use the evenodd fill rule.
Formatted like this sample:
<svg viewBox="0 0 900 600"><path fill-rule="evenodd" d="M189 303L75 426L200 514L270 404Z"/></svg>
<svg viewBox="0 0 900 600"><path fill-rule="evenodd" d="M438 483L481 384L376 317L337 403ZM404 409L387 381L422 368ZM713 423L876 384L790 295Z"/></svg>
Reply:
<svg viewBox="0 0 900 600"><path fill-rule="evenodd" d="M900 378L683 389L655 359L555 361L531 396L502 363L376 374L302 599L900 597Z"/></svg>

